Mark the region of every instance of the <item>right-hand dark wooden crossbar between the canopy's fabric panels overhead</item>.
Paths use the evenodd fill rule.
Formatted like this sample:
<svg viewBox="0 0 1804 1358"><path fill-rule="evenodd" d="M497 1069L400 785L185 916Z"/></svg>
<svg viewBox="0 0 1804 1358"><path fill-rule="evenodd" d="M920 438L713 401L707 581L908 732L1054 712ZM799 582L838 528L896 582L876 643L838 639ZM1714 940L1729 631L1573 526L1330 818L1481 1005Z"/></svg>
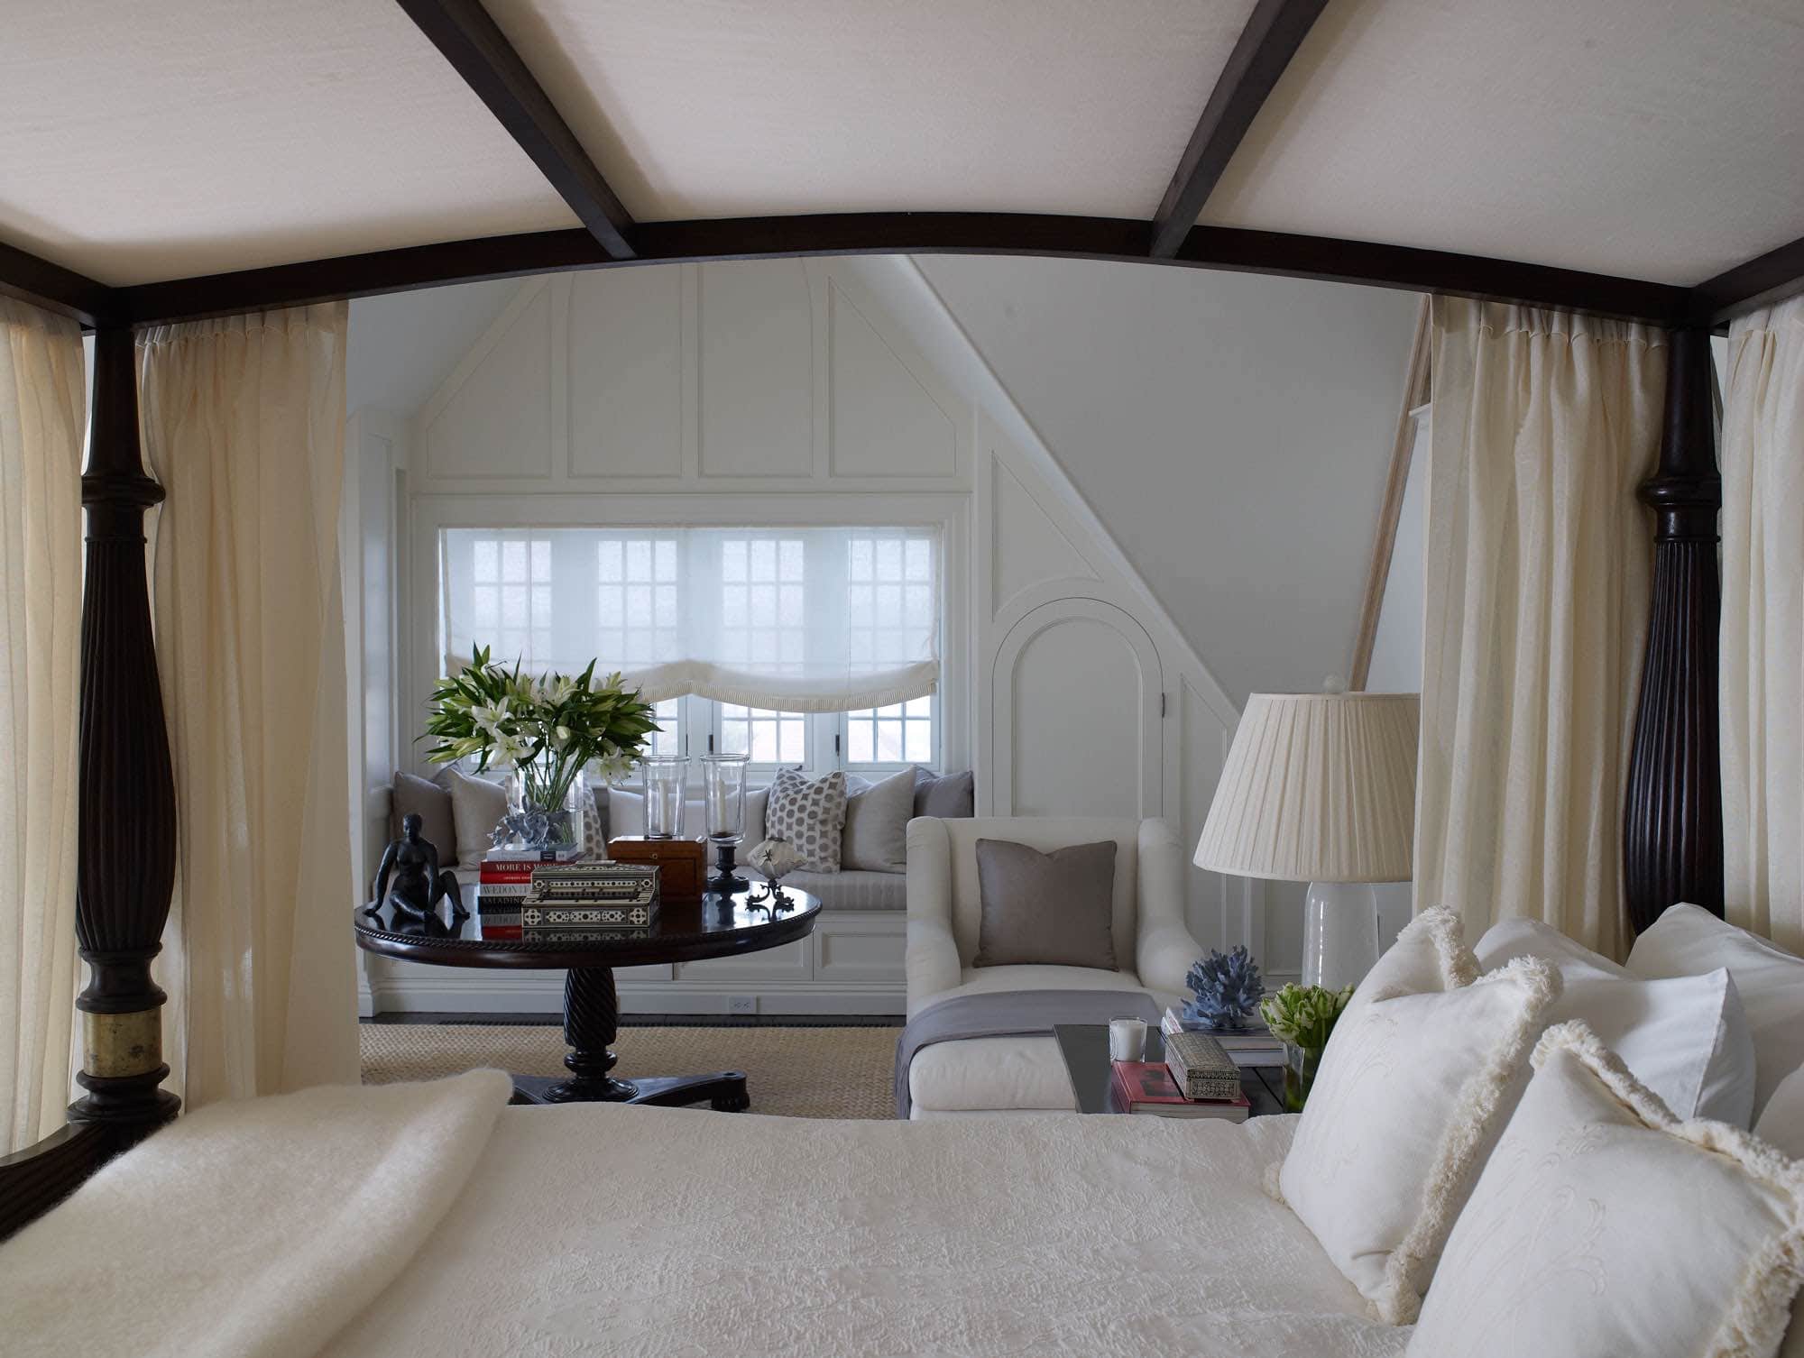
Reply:
<svg viewBox="0 0 1804 1358"><path fill-rule="evenodd" d="M1252 18L1221 67L1209 92L1203 115L1196 119L1191 144L1183 148L1178 173L1153 215L1153 256L1169 260L1196 225L1198 213L1214 193L1236 148L1265 106L1277 78L1297 54L1304 36L1328 0L1259 0Z"/></svg>

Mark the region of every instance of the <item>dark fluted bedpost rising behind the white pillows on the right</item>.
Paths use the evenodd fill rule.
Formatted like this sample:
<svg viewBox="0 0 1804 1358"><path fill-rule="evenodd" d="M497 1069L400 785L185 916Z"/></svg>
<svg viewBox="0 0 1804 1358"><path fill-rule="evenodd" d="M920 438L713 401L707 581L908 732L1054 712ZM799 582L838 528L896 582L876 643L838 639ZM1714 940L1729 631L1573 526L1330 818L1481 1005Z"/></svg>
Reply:
<svg viewBox="0 0 1804 1358"><path fill-rule="evenodd" d="M1654 510L1654 601L1624 803L1624 885L1640 932L1674 902L1723 913L1723 757L1717 730L1717 510L1710 334L1674 330Z"/></svg>

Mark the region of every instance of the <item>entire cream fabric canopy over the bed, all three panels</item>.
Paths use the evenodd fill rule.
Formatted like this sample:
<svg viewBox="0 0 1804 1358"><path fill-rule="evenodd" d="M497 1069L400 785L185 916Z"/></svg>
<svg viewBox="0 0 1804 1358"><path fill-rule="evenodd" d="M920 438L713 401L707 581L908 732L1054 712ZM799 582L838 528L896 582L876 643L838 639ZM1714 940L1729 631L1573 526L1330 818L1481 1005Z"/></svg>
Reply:
<svg viewBox="0 0 1804 1358"><path fill-rule="evenodd" d="M1252 0L489 0L642 222L1149 218ZM1205 224L1692 285L1804 234L1800 0L1330 0ZM0 243L108 285L572 227L393 0L7 0Z"/></svg>

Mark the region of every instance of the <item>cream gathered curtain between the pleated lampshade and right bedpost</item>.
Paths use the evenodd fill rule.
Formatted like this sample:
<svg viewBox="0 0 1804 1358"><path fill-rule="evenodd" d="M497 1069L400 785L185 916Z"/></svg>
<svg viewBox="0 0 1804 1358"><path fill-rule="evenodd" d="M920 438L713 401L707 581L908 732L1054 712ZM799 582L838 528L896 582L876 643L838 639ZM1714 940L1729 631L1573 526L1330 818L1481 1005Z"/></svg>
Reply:
<svg viewBox="0 0 1804 1358"><path fill-rule="evenodd" d="M1432 330L1416 907L1622 958L1665 335L1456 298Z"/></svg>

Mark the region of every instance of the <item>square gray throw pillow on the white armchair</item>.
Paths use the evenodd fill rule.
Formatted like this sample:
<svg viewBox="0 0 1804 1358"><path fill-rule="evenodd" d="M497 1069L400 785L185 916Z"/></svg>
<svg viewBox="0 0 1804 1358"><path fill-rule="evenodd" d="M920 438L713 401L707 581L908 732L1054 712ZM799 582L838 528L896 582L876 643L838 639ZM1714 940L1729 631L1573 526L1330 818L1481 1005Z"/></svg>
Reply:
<svg viewBox="0 0 1804 1358"><path fill-rule="evenodd" d="M978 840L983 918L972 967L1115 970L1115 840L1052 853Z"/></svg>

